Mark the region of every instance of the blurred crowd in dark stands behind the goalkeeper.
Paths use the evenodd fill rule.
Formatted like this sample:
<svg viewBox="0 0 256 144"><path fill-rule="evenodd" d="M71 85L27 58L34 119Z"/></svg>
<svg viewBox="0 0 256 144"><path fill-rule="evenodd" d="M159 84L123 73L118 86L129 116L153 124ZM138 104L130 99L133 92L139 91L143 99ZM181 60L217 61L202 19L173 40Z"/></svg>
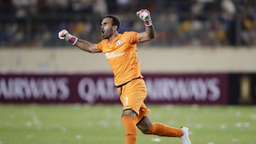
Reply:
<svg viewBox="0 0 256 144"><path fill-rule="evenodd" d="M0 0L0 48L65 47L64 28L97 43L107 14L119 16L120 33L144 31L139 9L156 29L149 46L256 45L255 0Z"/></svg>

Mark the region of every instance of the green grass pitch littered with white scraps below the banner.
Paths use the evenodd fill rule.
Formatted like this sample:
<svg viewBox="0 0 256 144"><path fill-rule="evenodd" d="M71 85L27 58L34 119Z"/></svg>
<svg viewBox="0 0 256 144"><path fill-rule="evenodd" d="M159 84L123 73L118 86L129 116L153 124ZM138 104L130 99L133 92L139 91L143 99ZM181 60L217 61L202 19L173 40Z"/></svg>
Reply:
<svg viewBox="0 0 256 144"><path fill-rule="evenodd" d="M148 105L153 122L188 126L193 144L255 144L256 106ZM124 143L121 105L0 104L0 144ZM138 144L181 143L143 135Z"/></svg>

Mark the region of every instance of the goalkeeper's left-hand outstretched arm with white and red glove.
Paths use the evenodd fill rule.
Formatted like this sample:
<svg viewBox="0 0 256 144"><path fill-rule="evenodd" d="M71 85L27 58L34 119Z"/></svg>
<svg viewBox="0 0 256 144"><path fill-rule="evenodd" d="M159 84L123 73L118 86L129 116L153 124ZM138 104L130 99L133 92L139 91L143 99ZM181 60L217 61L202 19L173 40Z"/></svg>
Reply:
<svg viewBox="0 0 256 144"><path fill-rule="evenodd" d="M70 35L70 33L68 33L67 30L60 31L58 33L58 37L60 38L60 40L66 40L66 41L70 42L72 45L77 46L81 50L85 50L85 51L91 52L91 53L100 52L99 50L97 50L96 44L90 43L86 40L81 40L74 35Z"/></svg>

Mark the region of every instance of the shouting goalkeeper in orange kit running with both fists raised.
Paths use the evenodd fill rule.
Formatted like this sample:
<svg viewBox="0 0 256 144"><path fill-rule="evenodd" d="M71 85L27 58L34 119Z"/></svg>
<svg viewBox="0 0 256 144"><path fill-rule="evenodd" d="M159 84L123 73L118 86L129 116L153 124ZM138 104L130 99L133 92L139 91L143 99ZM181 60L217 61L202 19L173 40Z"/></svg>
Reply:
<svg viewBox="0 0 256 144"><path fill-rule="evenodd" d="M94 44L70 35L62 30L58 37L67 40L72 45L87 52L104 52L114 73L114 84L117 87L119 99L122 102L122 123L125 128L125 144L135 144L137 128L147 135L159 135L181 138L183 144L190 144L188 128L173 128L162 123L152 123L149 109L146 108L146 84L144 82L137 57L137 43L152 40L155 36L150 13L146 9L137 12L144 21L145 31L137 33L126 31L119 33L120 21L116 16L105 16L102 19L100 31L103 40Z"/></svg>

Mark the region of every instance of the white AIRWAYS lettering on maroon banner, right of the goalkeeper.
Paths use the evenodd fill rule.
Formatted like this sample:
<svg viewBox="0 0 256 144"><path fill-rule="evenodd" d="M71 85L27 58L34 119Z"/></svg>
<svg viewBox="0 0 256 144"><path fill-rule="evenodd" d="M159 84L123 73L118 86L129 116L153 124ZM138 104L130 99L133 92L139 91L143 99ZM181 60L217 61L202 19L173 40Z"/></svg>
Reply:
<svg viewBox="0 0 256 144"><path fill-rule="evenodd" d="M146 79L148 99L216 101L220 98L218 78L197 79Z"/></svg>

